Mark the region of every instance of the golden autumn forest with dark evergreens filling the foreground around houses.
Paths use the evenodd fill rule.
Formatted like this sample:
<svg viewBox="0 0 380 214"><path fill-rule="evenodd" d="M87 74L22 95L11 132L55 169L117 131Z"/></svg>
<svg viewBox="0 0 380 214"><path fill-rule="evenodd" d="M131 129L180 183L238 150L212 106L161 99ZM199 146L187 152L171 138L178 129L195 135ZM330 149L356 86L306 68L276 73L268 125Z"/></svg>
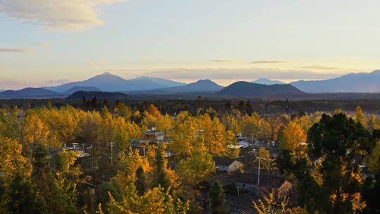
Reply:
<svg viewBox="0 0 380 214"><path fill-rule="evenodd" d="M380 213L374 111L206 102L1 105L0 213L243 213L215 158L244 159L227 179L279 172L261 178L246 213ZM148 143L156 130L165 139ZM248 151L239 137L259 146Z"/></svg>

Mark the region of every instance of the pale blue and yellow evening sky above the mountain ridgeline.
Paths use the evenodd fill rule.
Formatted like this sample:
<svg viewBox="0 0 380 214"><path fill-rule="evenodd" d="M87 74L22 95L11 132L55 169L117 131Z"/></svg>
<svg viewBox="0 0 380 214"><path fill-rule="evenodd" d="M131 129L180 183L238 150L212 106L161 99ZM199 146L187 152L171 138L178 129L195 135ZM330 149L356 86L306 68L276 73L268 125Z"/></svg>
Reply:
<svg viewBox="0 0 380 214"><path fill-rule="evenodd" d="M380 68L378 0L0 0L0 89L110 72L221 85Z"/></svg>

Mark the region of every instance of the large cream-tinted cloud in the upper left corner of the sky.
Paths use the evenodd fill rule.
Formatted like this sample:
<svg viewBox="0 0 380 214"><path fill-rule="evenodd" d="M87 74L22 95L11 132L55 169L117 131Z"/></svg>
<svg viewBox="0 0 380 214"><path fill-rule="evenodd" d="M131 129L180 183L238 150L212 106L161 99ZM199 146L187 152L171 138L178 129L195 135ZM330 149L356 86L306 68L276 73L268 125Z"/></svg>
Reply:
<svg viewBox="0 0 380 214"><path fill-rule="evenodd" d="M85 30L103 24L96 6L122 1L128 0L0 0L0 13L48 29Z"/></svg>

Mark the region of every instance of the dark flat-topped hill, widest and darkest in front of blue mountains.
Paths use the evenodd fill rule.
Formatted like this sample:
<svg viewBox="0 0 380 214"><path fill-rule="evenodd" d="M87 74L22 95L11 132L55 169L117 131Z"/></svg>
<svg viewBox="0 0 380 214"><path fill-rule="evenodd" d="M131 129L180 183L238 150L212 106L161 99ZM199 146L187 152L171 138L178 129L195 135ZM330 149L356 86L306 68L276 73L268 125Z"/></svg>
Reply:
<svg viewBox="0 0 380 214"><path fill-rule="evenodd" d="M235 82L217 92L219 95L228 96L258 96L258 97L287 97L305 96L305 92L300 91L290 84L257 84L251 82Z"/></svg>

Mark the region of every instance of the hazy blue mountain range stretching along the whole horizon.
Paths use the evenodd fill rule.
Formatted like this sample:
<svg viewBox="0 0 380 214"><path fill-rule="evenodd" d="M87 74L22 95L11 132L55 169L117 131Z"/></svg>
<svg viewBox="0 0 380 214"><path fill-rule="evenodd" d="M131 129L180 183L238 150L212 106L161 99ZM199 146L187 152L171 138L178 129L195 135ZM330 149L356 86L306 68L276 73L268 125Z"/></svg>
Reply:
<svg viewBox="0 0 380 214"><path fill-rule="evenodd" d="M331 93L346 93L344 97L351 97L354 96L352 93L380 93L380 70L374 70L372 73L351 73L330 80L301 80L290 84L260 78L253 82L235 82L227 87L222 87L211 80L198 80L197 82L184 84L145 76L125 80L117 75L103 73L88 80L70 82L55 87L25 88L0 92L0 99L62 98L75 94L75 92L122 92L131 95L213 94L215 96L268 96L279 98L311 96L311 94L307 93L314 93L315 96L322 93L330 93L329 96L333 96ZM327 95L325 94L324 96ZM334 96L343 95L336 94Z"/></svg>

